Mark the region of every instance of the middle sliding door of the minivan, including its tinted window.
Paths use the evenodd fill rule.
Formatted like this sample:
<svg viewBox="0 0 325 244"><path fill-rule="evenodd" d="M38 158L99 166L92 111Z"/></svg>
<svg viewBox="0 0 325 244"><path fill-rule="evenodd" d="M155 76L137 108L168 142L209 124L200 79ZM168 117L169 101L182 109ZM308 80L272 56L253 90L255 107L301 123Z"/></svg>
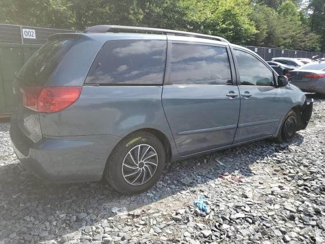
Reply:
<svg viewBox="0 0 325 244"><path fill-rule="evenodd" d="M228 52L221 44L172 44L163 107L181 156L234 141L240 99Z"/></svg>

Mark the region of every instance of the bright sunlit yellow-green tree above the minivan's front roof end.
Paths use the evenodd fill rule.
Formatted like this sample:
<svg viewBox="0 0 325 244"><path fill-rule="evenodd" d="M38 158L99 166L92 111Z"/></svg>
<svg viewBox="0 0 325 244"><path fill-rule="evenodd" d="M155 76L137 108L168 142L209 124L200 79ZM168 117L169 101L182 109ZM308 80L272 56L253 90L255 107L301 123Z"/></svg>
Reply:
<svg viewBox="0 0 325 244"><path fill-rule="evenodd" d="M188 30L221 36L230 42L245 44L256 33L249 19L248 0L182 0L186 7Z"/></svg>

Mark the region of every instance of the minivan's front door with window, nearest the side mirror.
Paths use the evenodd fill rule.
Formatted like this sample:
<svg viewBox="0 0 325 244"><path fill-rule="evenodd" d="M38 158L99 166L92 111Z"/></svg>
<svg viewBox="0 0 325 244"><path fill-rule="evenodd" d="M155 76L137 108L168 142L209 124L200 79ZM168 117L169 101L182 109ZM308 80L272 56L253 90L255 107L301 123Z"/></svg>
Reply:
<svg viewBox="0 0 325 244"><path fill-rule="evenodd" d="M239 73L241 109L234 143L273 135L283 114L282 90L273 71L257 56L233 49Z"/></svg>

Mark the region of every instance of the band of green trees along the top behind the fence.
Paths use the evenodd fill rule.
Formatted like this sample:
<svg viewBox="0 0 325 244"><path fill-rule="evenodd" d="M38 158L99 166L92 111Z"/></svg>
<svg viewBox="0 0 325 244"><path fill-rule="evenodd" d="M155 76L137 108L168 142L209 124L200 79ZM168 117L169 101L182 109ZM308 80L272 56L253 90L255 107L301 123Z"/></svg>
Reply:
<svg viewBox="0 0 325 244"><path fill-rule="evenodd" d="M325 0L0 0L0 22L83 29L179 29L236 44L325 50ZM305 6L302 8L301 6Z"/></svg>

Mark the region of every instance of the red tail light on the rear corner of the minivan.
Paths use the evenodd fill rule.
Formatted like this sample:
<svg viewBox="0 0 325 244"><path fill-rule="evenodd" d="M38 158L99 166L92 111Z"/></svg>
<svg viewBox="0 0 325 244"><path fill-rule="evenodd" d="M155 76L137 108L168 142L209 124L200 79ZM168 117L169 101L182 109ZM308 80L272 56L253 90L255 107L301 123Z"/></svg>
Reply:
<svg viewBox="0 0 325 244"><path fill-rule="evenodd" d="M81 88L81 86L26 87L23 89L22 104L40 113L55 113L76 102Z"/></svg>

